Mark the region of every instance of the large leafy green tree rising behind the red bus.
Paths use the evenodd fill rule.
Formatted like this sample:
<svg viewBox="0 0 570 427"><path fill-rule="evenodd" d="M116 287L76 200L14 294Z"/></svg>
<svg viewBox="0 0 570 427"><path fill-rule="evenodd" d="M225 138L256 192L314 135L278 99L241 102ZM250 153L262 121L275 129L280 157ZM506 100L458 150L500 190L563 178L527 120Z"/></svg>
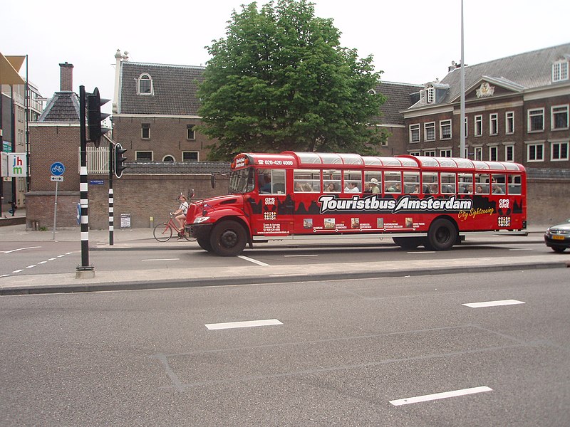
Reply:
<svg viewBox="0 0 570 427"><path fill-rule="evenodd" d="M372 56L340 46L331 19L306 0L254 2L233 11L199 88L199 130L219 143L210 159L239 152L371 154L385 140L375 127L385 98Z"/></svg>

